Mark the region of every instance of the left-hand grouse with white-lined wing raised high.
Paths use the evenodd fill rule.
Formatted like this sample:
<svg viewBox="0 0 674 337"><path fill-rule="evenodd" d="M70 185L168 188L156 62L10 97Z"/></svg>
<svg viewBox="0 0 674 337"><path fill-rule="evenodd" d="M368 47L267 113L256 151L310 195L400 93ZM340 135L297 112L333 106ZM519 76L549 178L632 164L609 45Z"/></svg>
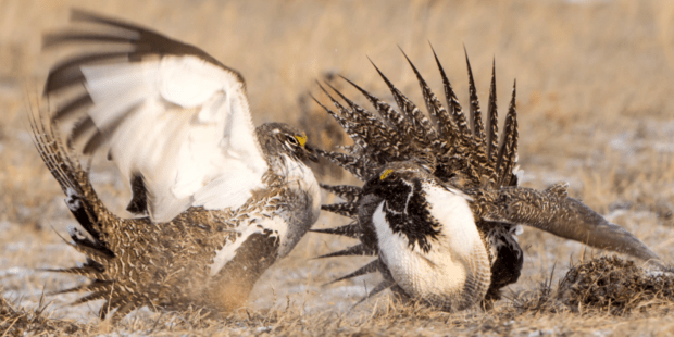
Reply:
<svg viewBox="0 0 674 337"><path fill-rule="evenodd" d="M45 95L58 108L48 125L33 123L87 257L59 271L91 279L60 292L90 292L75 303L105 299L101 317L143 305L240 307L319 216L305 136L279 123L253 127L244 78L196 47L80 11L72 20L89 25L46 35L45 48L98 49L52 67ZM76 118L62 143L51 123ZM108 150L137 217L103 205L72 149Z"/></svg>

